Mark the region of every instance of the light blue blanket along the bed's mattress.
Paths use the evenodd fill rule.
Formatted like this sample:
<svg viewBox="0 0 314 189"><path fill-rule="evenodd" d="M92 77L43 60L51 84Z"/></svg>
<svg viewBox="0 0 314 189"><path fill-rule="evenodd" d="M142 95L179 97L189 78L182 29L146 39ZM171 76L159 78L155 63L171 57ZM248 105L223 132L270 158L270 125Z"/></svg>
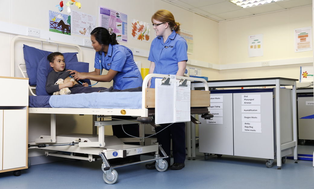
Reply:
<svg viewBox="0 0 314 189"><path fill-rule="evenodd" d="M141 109L142 92L92 92L70 95L52 95L52 108L122 108Z"/></svg>

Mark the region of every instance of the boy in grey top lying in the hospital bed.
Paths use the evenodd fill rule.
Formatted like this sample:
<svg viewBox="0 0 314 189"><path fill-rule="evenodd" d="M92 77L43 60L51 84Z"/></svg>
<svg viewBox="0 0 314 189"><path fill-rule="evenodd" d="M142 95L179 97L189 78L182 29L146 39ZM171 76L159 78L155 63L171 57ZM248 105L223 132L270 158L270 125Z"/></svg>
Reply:
<svg viewBox="0 0 314 189"><path fill-rule="evenodd" d="M78 84L77 81L70 81L69 73L72 71L65 68L64 57L62 53L54 52L47 56L52 71L47 76L46 91L54 93L60 91L62 88L68 87L71 94L77 93L91 93L91 92L116 92L113 87L109 89L105 87L89 87L87 83ZM63 79L63 84L55 85L58 79Z"/></svg>

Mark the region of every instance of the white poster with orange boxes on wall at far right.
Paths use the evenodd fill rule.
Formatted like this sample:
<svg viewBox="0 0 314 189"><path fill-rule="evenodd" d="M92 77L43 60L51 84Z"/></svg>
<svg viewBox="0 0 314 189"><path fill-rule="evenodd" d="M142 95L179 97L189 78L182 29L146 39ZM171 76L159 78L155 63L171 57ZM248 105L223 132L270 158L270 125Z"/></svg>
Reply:
<svg viewBox="0 0 314 189"><path fill-rule="evenodd" d="M295 53L311 50L313 50L312 26L295 29Z"/></svg>

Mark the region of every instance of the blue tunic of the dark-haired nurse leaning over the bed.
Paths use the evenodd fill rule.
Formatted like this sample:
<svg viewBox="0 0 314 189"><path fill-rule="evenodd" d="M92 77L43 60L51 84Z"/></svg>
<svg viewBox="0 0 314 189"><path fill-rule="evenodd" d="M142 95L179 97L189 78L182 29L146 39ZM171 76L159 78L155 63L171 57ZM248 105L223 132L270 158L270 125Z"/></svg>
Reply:
<svg viewBox="0 0 314 189"><path fill-rule="evenodd" d="M96 52L94 65L96 69L100 69L99 59L100 53ZM107 55L101 52L101 68L118 71L113 78L115 89L124 90L142 86L141 72L134 62L132 51L127 47L109 44Z"/></svg>

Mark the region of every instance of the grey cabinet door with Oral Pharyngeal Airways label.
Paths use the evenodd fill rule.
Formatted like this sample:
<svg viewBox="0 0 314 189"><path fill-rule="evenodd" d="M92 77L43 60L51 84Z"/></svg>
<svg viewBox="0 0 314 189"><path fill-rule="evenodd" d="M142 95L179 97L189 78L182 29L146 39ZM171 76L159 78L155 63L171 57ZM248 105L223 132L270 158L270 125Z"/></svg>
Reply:
<svg viewBox="0 0 314 189"><path fill-rule="evenodd" d="M273 92L233 94L234 155L274 158Z"/></svg>

